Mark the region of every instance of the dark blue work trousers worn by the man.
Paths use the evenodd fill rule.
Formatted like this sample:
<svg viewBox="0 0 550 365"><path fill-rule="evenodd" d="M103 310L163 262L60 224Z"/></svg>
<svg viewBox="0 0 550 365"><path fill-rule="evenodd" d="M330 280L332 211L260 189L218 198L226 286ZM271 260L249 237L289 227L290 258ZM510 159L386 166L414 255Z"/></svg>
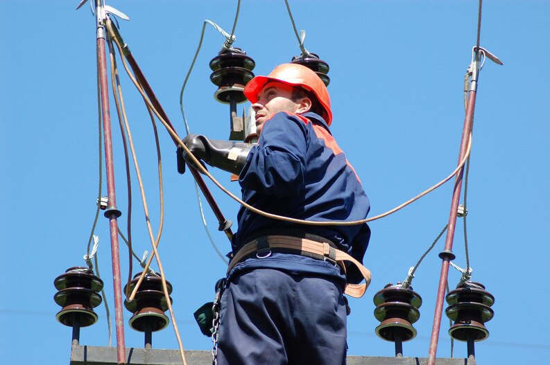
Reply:
<svg viewBox="0 0 550 365"><path fill-rule="evenodd" d="M253 269L235 274L221 299L218 365L343 365L343 282Z"/></svg>

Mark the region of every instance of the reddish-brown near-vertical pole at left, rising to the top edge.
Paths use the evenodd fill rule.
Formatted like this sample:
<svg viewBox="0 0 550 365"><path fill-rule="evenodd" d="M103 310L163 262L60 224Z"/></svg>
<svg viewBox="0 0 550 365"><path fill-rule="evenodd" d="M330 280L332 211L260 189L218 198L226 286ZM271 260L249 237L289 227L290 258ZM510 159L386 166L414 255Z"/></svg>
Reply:
<svg viewBox="0 0 550 365"><path fill-rule="evenodd" d="M111 119L109 109L109 89L107 81L107 59L105 57L105 12L101 0L95 0L98 77L101 94L101 115L103 118L103 140L105 145L105 172L107 175L108 206L105 217L109 219L111 233L112 283L114 289L114 318L117 330L118 364L126 364L126 346L124 344L124 320L122 315L122 289L119 255L119 227L117 218L121 212L117 209L117 197L114 191L114 165L112 157Z"/></svg>

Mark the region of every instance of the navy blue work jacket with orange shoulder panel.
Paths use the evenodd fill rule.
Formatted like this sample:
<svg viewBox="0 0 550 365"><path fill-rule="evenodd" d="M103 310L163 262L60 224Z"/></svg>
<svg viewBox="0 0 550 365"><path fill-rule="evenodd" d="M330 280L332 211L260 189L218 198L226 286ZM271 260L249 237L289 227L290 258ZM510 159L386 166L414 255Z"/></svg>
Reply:
<svg viewBox="0 0 550 365"><path fill-rule="evenodd" d="M370 210L361 181L338 148L327 123L311 112L279 112L266 121L258 144L248 154L239 184L244 202L261 211L300 220L363 220ZM258 233L285 234L292 230L331 240L338 249L363 262L370 239L367 224L295 224L264 217L244 207L239 211L238 223L233 241L235 253ZM285 253L268 259L248 259L244 266L330 275L327 262ZM348 270L348 282L357 283L361 278L356 269Z"/></svg>

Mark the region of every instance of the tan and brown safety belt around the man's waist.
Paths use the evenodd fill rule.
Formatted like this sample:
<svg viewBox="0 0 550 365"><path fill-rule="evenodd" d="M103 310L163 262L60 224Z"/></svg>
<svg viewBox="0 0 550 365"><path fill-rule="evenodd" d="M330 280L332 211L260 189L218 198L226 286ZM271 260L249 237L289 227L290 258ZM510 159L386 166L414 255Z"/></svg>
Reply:
<svg viewBox="0 0 550 365"><path fill-rule="evenodd" d="M361 298L361 296L365 294L368 285L370 285L370 279L372 278L370 271L361 265L361 262L357 261L348 253L336 249L326 242L317 242L307 238L291 237L288 235L266 235L248 242L241 247L241 249L239 249L239 251L232 258L229 267L227 268L227 273L229 273L229 271L243 258L250 256L252 253L258 252L259 250L267 251L268 249L295 250L300 251L300 254L309 253L309 255L304 254L304 256L328 258L338 262L341 266L343 266L343 261L352 262L357 269L361 271L361 275L366 281L364 284L347 283L345 285L345 294L353 296L354 298Z"/></svg>

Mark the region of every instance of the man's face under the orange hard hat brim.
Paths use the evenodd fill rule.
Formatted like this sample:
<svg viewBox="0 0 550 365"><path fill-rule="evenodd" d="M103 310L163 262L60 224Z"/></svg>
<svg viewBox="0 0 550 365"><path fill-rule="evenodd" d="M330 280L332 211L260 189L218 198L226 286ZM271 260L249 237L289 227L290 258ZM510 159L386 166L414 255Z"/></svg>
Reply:
<svg viewBox="0 0 550 365"><path fill-rule="evenodd" d="M268 82L252 104L256 112L256 132L259 135L264 123L277 112L296 113L300 109L300 99L292 100L293 87L280 82Z"/></svg>

